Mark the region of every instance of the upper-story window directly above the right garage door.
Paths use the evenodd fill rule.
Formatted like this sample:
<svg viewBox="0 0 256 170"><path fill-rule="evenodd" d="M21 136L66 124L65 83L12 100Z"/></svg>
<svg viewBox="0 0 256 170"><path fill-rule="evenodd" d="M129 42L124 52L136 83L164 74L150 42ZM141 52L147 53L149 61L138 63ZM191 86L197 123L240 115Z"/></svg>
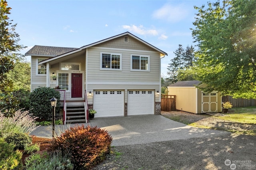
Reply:
<svg viewBox="0 0 256 170"><path fill-rule="evenodd" d="M132 55L131 60L133 71L149 71L149 55Z"/></svg>

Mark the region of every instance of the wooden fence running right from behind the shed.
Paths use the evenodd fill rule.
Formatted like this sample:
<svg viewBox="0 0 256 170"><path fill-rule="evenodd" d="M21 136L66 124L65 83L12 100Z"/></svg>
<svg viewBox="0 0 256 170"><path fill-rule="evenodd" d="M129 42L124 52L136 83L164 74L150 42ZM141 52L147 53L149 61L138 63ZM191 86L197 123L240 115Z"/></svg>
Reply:
<svg viewBox="0 0 256 170"><path fill-rule="evenodd" d="M256 106L255 99L233 99L232 96L222 96L222 101L229 101L230 103L232 103L233 107Z"/></svg>

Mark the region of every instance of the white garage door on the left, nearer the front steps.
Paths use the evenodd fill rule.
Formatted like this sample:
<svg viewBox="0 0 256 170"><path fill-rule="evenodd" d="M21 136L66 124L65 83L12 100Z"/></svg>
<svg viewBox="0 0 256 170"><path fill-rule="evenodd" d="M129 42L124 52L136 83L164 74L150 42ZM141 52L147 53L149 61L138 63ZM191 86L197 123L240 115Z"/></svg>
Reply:
<svg viewBox="0 0 256 170"><path fill-rule="evenodd" d="M97 111L94 117L124 116L124 91L94 91L93 108Z"/></svg>

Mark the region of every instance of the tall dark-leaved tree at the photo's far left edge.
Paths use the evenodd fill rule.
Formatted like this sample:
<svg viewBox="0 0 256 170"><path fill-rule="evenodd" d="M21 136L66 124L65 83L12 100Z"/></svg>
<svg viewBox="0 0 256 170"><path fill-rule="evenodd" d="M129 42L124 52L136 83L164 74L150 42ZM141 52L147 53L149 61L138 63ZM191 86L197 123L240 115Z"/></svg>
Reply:
<svg viewBox="0 0 256 170"><path fill-rule="evenodd" d="M18 45L19 35L15 32L16 24L9 21L10 7L5 0L0 3L0 110L6 116L18 109L18 100L12 95L13 82L8 79L7 73L14 69L13 53L24 48Z"/></svg>

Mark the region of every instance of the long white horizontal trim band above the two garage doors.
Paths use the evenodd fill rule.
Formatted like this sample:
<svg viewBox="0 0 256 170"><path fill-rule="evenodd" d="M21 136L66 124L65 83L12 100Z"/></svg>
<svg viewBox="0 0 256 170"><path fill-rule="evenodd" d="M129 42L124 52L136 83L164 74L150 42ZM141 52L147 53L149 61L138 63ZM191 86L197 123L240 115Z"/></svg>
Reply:
<svg viewBox="0 0 256 170"><path fill-rule="evenodd" d="M159 85L159 82L114 82L114 81L88 81L86 85ZM145 87L144 87L145 88Z"/></svg>

